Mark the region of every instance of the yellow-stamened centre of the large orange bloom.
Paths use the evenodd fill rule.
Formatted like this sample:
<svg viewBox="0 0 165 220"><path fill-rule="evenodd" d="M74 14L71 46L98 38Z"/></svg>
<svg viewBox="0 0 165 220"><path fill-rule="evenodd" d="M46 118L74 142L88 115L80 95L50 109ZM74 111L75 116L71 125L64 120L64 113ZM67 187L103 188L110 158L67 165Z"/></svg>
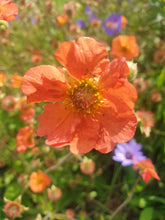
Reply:
<svg viewBox="0 0 165 220"><path fill-rule="evenodd" d="M66 104L77 112L93 113L102 103L103 98L95 79L83 79L68 90Z"/></svg>

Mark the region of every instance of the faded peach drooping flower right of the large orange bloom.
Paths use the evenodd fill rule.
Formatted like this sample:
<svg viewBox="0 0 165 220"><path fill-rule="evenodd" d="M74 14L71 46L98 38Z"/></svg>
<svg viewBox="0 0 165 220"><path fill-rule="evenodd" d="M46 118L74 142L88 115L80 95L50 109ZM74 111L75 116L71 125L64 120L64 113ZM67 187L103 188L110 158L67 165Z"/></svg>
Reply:
<svg viewBox="0 0 165 220"><path fill-rule="evenodd" d="M155 116L151 111L139 110L136 112L138 121L140 121L140 130L146 137L150 136L151 128L155 124Z"/></svg>

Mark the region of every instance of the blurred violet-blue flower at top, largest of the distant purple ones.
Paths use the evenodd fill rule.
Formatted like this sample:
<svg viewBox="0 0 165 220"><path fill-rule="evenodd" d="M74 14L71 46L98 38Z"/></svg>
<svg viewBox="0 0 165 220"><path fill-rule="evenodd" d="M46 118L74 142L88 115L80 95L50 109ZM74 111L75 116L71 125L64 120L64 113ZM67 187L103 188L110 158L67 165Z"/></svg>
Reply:
<svg viewBox="0 0 165 220"><path fill-rule="evenodd" d="M103 28L108 36L118 34L122 25L120 14L111 14L103 24Z"/></svg>

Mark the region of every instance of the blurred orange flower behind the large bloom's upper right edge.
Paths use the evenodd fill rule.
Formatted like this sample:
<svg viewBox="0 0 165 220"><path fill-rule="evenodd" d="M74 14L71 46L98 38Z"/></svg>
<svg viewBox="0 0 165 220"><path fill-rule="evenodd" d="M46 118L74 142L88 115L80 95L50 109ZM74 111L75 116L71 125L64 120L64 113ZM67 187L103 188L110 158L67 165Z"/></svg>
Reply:
<svg viewBox="0 0 165 220"><path fill-rule="evenodd" d="M139 55L139 46L134 36L119 35L112 40L111 56L113 58L125 57L132 60Z"/></svg>

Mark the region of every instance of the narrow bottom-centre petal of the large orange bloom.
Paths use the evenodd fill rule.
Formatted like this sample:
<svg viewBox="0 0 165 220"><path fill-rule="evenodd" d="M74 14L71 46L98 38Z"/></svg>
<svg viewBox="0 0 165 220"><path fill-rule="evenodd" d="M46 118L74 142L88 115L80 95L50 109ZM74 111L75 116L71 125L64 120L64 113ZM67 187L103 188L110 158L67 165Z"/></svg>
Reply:
<svg viewBox="0 0 165 220"><path fill-rule="evenodd" d="M70 151L73 154L85 154L91 151L96 145L99 123L86 116L76 131L75 137L70 144Z"/></svg>

